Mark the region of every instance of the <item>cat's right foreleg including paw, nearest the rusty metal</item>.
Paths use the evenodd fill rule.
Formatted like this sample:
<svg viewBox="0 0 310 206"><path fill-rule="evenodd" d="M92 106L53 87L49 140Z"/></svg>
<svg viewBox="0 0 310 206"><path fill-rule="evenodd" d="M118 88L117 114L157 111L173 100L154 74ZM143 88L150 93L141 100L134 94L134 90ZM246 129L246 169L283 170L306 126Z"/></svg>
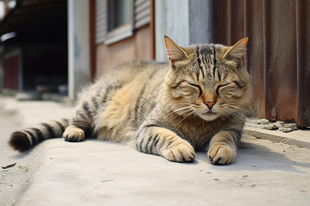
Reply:
<svg viewBox="0 0 310 206"><path fill-rule="evenodd" d="M224 130L214 135L208 151L210 161L215 165L234 163L240 136L240 130L234 129Z"/></svg>

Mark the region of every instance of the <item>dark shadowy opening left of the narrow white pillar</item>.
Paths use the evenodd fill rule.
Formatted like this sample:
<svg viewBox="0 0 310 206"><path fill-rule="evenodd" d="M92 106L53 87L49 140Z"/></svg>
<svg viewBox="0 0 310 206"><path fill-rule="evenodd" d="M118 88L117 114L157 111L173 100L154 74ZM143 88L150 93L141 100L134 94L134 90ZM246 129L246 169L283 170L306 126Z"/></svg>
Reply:
<svg viewBox="0 0 310 206"><path fill-rule="evenodd" d="M4 89L58 90L68 84L67 1L19 0L0 22ZM18 56L18 69L11 67ZM16 66L16 65L15 65ZM13 72L14 71L14 72ZM11 80L18 82L11 82ZM10 85L8 87L7 85ZM6 88L8 87L8 88Z"/></svg>

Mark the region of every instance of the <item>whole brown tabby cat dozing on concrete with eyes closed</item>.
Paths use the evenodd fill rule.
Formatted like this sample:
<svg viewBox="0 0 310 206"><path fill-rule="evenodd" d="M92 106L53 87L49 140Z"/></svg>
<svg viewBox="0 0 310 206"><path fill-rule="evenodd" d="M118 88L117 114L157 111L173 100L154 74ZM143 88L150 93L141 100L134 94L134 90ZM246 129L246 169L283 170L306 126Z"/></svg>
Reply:
<svg viewBox="0 0 310 206"><path fill-rule="evenodd" d="M24 152L63 137L132 141L136 149L169 161L193 162L209 146L211 163L234 163L251 100L242 67L248 38L231 47L180 47L165 36L169 63L132 60L112 67L79 95L76 114L12 133Z"/></svg>

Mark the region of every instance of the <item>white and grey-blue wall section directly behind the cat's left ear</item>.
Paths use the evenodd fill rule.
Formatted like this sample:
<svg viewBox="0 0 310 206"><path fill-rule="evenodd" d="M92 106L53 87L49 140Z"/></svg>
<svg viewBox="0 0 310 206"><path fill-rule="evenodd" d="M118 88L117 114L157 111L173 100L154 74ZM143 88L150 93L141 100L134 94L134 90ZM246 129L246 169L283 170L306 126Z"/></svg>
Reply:
<svg viewBox="0 0 310 206"><path fill-rule="evenodd" d="M180 46L213 43L212 0L155 0L155 58L167 61L164 35Z"/></svg>

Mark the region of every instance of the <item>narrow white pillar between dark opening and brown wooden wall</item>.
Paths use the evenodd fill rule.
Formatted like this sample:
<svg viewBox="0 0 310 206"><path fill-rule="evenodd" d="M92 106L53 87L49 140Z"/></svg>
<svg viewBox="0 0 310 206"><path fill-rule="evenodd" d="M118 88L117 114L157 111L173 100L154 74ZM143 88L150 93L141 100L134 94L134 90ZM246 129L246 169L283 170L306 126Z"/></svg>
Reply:
<svg viewBox="0 0 310 206"><path fill-rule="evenodd" d="M83 85L90 82L89 2L68 0L68 92L74 100Z"/></svg>

